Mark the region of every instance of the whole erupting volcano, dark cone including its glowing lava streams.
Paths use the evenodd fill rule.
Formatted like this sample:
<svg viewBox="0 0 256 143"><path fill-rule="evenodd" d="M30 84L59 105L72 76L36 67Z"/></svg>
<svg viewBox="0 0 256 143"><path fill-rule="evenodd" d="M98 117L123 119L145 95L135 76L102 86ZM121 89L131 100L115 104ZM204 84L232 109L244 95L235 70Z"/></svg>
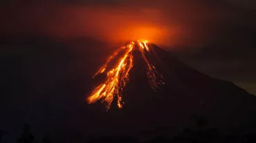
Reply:
<svg viewBox="0 0 256 143"><path fill-rule="evenodd" d="M81 118L90 133L160 128L172 134L195 116L222 133L256 133L256 97L244 89L201 74L154 43L134 41L118 50L93 76Z"/></svg>

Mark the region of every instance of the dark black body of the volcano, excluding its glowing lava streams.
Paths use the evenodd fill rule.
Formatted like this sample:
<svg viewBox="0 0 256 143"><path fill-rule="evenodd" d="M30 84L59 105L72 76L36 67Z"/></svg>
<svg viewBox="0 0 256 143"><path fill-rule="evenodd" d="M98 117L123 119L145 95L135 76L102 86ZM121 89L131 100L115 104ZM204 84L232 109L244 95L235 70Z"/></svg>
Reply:
<svg viewBox="0 0 256 143"><path fill-rule="evenodd" d="M151 44L149 62L163 74L165 85L156 93L148 85L147 66L134 51L134 67L123 90L125 105L103 113L101 102L86 104L89 126L106 133L153 131L164 126L168 132L190 125L192 115L208 118L221 133L241 135L256 133L256 97L234 84L210 78L181 63L157 45ZM154 54L155 53L155 54ZM88 117L87 116L87 117ZM96 131L97 132L97 131Z"/></svg>

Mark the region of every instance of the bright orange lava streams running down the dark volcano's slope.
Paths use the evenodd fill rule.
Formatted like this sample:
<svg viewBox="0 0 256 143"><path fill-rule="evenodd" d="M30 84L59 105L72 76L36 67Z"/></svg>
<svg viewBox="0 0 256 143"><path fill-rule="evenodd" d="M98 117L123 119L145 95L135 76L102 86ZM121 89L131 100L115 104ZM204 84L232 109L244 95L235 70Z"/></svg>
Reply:
<svg viewBox="0 0 256 143"><path fill-rule="evenodd" d="M147 41L139 40L136 42L130 42L124 47L120 47L113 55L109 56L107 62L102 65L100 70L93 76L98 74L107 74L106 79L95 87L91 92L91 95L86 99L89 104L94 103L100 99L106 104L107 109L110 108L111 102L113 102L114 97L117 97L117 105L119 108L122 108L124 102L122 101L122 89L125 87L129 81L129 71L133 67L133 52L135 45L138 45L141 55L143 56L144 61L147 63L147 77L149 78L149 85L156 91L158 85L163 85L163 76L158 75L156 68L149 63L145 52L150 52ZM124 51L124 54L120 56L118 62L112 69L107 71L107 66L113 58Z"/></svg>

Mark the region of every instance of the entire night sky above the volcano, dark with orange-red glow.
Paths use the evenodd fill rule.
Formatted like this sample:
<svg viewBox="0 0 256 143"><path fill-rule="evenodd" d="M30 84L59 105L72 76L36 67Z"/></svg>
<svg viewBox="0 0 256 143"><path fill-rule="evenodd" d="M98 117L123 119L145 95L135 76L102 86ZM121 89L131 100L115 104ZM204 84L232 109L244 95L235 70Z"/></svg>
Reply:
<svg viewBox="0 0 256 143"><path fill-rule="evenodd" d="M0 8L3 36L148 39L195 69L256 94L253 0L12 0Z"/></svg>

